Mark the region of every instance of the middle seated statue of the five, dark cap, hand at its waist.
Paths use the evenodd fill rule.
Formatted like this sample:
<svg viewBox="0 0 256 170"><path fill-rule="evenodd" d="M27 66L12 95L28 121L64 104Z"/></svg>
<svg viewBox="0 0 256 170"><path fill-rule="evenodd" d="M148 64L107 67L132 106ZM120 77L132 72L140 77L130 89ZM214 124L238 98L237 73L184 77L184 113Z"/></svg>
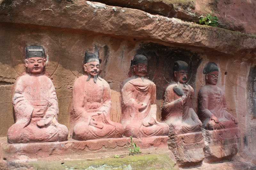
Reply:
<svg viewBox="0 0 256 170"><path fill-rule="evenodd" d="M126 137L167 136L169 127L156 121L156 85L145 76L148 59L135 55L131 64L134 76L121 86L122 120Z"/></svg>

